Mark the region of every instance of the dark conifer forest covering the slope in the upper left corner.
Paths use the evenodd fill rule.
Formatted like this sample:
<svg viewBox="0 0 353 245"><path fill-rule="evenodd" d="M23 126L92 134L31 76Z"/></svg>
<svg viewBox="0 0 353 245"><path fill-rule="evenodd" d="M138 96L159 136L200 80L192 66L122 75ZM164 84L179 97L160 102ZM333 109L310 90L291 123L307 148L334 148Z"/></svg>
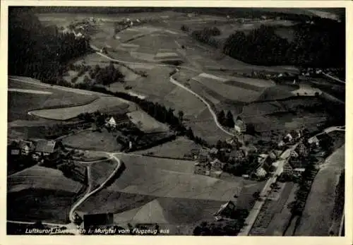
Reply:
<svg viewBox="0 0 353 245"><path fill-rule="evenodd" d="M90 52L87 38L44 27L28 8L9 8L8 21L8 74L56 83L68 61Z"/></svg>

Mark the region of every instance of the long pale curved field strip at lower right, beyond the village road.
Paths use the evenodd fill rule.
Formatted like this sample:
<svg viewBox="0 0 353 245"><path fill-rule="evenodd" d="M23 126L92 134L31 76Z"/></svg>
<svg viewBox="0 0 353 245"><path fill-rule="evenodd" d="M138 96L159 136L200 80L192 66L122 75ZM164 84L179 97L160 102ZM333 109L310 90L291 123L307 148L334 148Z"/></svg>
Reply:
<svg viewBox="0 0 353 245"><path fill-rule="evenodd" d="M296 236L328 236L333 222L335 189L342 169L345 168L345 145L324 162L316 175Z"/></svg>

